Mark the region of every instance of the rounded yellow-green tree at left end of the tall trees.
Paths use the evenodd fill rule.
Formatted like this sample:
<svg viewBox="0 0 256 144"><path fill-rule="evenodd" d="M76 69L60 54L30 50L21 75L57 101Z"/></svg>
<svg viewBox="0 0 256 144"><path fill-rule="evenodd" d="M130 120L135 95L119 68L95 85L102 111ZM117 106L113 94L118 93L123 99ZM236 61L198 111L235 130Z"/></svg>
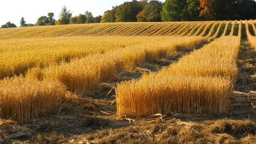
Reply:
<svg viewBox="0 0 256 144"><path fill-rule="evenodd" d="M133 0L119 5L115 14L116 22L136 22L136 16L141 10L141 7L139 7L138 4L139 2Z"/></svg>

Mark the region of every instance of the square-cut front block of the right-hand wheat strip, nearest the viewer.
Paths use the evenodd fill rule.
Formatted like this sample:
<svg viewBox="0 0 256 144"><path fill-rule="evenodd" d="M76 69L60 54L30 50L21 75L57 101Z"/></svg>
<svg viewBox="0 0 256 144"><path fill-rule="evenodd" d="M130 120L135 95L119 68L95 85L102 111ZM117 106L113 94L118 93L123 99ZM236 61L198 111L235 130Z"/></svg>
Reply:
<svg viewBox="0 0 256 144"><path fill-rule="evenodd" d="M184 77L150 74L116 88L117 115L155 113L222 113L229 103L231 85L221 77Z"/></svg>

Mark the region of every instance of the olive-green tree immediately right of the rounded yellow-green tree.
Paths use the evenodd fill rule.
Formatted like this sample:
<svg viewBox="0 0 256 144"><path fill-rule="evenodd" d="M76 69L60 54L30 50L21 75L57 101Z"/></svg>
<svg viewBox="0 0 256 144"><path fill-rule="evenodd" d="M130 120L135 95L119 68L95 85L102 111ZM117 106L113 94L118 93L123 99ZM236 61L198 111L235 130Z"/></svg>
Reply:
<svg viewBox="0 0 256 144"><path fill-rule="evenodd" d="M161 22L162 4L159 1L150 1L142 10L148 22Z"/></svg>

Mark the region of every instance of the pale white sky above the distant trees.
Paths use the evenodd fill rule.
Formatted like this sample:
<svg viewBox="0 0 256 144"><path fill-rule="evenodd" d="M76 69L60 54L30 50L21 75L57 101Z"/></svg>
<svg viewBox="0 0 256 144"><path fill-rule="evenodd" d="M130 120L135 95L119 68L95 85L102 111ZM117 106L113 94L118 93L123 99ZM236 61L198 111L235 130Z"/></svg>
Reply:
<svg viewBox="0 0 256 144"><path fill-rule="evenodd" d="M23 16L27 23L36 23L41 16L54 13L54 18L59 19L61 8L66 5L72 16L84 14L85 11L92 12L93 16L103 15L104 11L111 10L115 5L132 0L12 0L1 1L0 3L0 26L7 22L20 26L20 19ZM165 0L159 0L164 2Z"/></svg>

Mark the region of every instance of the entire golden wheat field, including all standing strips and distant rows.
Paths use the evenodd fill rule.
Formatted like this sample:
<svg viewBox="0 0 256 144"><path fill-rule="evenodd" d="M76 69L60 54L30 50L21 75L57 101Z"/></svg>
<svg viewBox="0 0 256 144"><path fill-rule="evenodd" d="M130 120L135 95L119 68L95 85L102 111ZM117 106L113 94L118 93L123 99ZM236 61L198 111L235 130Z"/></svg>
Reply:
<svg viewBox="0 0 256 144"><path fill-rule="evenodd" d="M252 20L250 26L255 32ZM67 91L92 91L121 71L207 41L158 73L119 83L117 113L225 112L236 83L241 31L237 20L0 29L0 116L36 118L57 109ZM255 34L247 35L254 43Z"/></svg>

